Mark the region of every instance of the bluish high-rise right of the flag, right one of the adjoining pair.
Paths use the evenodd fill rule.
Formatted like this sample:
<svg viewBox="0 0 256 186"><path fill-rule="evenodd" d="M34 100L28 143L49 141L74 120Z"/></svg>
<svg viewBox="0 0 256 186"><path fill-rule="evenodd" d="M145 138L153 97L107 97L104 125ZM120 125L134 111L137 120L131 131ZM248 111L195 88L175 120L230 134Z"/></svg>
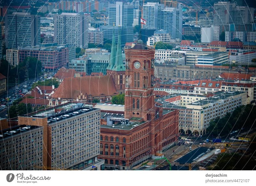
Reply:
<svg viewBox="0 0 256 186"><path fill-rule="evenodd" d="M158 17L158 29L169 31L172 39L182 39L182 9L165 7Z"/></svg>

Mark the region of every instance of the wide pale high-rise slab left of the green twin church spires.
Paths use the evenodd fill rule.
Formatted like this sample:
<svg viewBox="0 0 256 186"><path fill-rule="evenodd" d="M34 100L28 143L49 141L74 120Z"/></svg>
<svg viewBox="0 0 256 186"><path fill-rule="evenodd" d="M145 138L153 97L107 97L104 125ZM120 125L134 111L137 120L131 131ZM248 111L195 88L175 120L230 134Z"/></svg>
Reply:
<svg viewBox="0 0 256 186"><path fill-rule="evenodd" d="M87 16L78 13L62 13L54 16L54 42L87 48L87 40Z"/></svg>

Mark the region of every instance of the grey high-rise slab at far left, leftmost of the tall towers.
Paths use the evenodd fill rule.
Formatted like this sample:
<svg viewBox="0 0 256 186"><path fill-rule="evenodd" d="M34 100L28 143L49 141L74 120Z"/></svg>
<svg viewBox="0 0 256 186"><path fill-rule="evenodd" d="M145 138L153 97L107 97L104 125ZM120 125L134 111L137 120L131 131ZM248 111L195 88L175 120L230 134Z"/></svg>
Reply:
<svg viewBox="0 0 256 186"><path fill-rule="evenodd" d="M7 14L5 32L7 48L40 44L40 16L28 12Z"/></svg>

